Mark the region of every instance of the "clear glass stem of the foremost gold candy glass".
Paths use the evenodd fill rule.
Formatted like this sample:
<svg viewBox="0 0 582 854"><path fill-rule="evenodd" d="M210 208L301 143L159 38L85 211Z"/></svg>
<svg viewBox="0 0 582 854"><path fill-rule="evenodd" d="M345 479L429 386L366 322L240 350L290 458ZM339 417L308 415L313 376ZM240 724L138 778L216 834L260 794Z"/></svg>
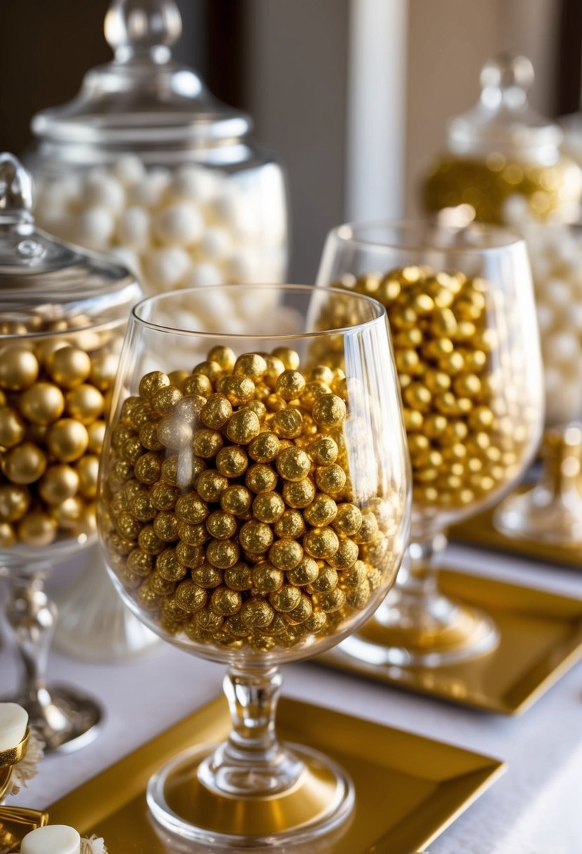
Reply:
<svg viewBox="0 0 582 854"><path fill-rule="evenodd" d="M201 763L201 782L215 793L273 795L298 781L304 765L276 737L278 667L232 666L224 677L232 728L229 738Z"/></svg>

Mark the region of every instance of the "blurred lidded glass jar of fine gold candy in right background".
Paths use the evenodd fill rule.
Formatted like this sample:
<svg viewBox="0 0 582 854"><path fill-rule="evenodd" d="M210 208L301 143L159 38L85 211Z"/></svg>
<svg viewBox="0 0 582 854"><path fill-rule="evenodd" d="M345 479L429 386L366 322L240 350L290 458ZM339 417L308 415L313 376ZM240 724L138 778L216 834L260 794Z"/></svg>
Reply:
<svg viewBox="0 0 582 854"><path fill-rule="evenodd" d="M561 128L527 102L532 83L525 56L486 62L479 103L451 119L447 150L424 178L428 213L453 208L461 223L578 218L582 170L562 155Z"/></svg>

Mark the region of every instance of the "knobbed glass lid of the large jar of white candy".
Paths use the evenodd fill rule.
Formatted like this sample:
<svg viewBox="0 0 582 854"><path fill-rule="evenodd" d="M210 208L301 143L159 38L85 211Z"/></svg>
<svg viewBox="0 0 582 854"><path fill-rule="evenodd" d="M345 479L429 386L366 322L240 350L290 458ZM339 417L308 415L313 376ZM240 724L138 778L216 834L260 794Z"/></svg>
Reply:
<svg viewBox="0 0 582 854"><path fill-rule="evenodd" d="M247 114L226 106L190 67L172 60L182 33L174 0L113 0L105 38L114 59L87 72L79 94L32 119L32 132L62 143L210 145L252 129Z"/></svg>

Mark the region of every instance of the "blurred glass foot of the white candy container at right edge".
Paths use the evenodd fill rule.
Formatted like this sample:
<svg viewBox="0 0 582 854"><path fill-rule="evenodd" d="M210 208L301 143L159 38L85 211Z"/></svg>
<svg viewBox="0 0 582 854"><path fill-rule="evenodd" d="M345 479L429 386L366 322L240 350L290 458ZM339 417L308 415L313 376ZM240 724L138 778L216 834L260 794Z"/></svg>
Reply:
<svg viewBox="0 0 582 854"><path fill-rule="evenodd" d="M582 545L582 497L572 491L550 493L535 487L509 495L493 514L498 531L512 538L550 542L561 546Z"/></svg>

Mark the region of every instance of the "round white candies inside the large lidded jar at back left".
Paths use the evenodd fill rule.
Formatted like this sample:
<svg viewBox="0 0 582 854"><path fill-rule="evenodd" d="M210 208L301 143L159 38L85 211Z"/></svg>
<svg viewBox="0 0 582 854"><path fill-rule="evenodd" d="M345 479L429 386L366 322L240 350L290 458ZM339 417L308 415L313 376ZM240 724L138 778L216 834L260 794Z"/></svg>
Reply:
<svg viewBox="0 0 582 854"><path fill-rule="evenodd" d="M123 155L84 176L41 178L38 222L73 243L111 251L149 293L282 281L284 230L261 224L253 186L238 178L199 165L146 167Z"/></svg>

